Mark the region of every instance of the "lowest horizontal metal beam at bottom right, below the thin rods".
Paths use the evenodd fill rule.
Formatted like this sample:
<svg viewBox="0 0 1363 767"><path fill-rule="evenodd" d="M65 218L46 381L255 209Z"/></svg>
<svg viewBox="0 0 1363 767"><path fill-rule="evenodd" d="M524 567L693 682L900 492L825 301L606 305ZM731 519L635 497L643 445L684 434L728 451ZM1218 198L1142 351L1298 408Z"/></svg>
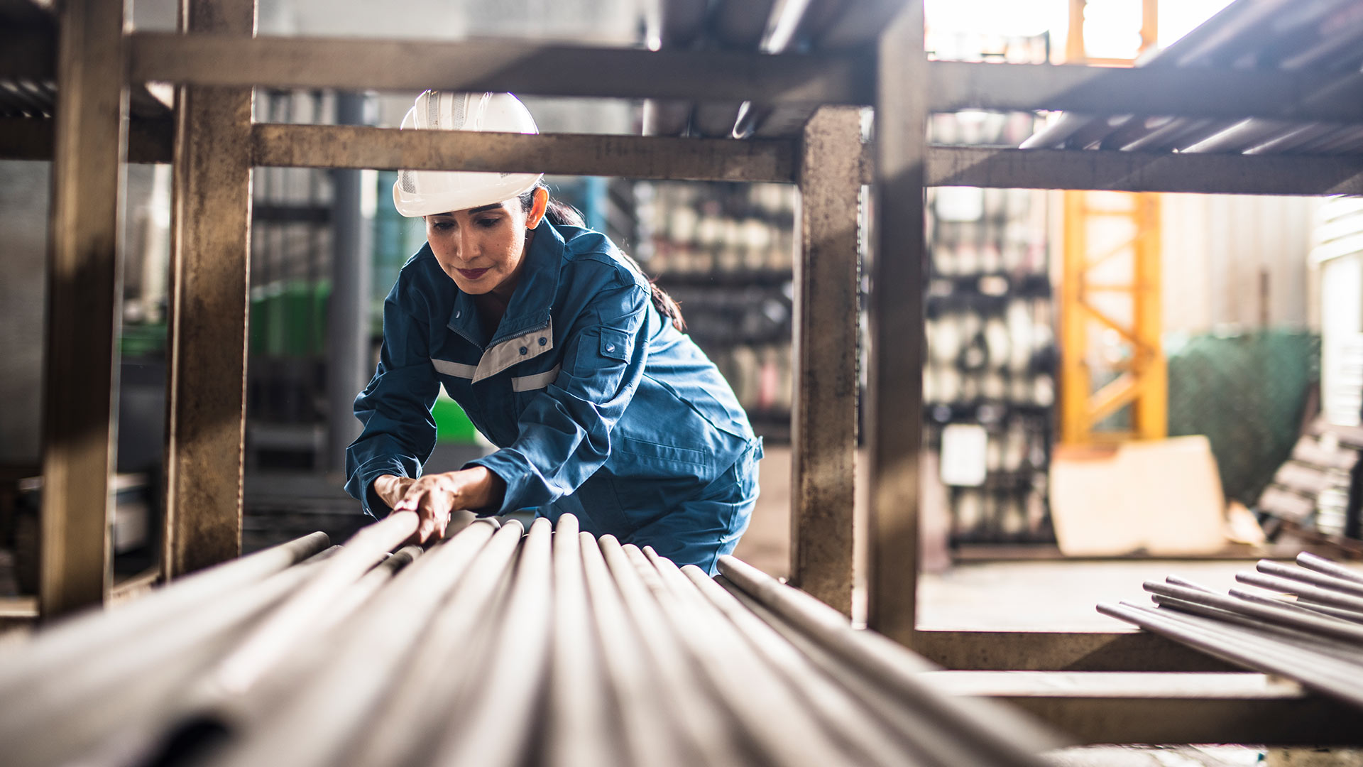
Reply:
<svg viewBox="0 0 1363 767"><path fill-rule="evenodd" d="M930 684L1006 700L1084 744L1359 745L1358 710L1262 674L939 671Z"/></svg>

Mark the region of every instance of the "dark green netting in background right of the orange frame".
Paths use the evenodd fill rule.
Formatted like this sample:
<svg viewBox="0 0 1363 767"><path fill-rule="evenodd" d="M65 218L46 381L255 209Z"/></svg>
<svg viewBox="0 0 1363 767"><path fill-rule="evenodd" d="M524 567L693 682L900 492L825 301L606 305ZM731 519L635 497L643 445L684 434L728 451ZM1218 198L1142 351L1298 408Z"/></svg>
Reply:
<svg viewBox="0 0 1363 767"><path fill-rule="evenodd" d="M1319 381L1321 337L1208 333L1169 338L1165 353L1169 437L1206 434L1225 497L1253 505L1296 445Z"/></svg>

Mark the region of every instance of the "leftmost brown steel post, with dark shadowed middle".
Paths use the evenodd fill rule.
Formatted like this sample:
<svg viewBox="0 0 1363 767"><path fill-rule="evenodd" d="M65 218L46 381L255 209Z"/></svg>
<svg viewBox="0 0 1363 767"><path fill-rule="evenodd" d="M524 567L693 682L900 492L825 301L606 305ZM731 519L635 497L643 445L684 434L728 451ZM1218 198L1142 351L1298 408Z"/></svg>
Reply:
<svg viewBox="0 0 1363 767"><path fill-rule="evenodd" d="M61 3L48 255L40 609L104 600L119 392L123 3Z"/></svg>

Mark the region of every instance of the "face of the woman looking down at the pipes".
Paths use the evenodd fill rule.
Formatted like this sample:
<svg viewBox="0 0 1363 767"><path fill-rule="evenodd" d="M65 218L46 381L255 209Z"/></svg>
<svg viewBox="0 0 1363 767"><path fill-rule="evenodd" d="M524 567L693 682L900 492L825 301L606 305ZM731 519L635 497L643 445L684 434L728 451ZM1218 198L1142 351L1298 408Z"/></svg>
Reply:
<svg viewBox="0 0 1363 767"><path fill-rule="evenodd" d="M525 259L527 213L511 198L492 205L427 216L427 242L444 273L469 295L515 287Z"/></svg>

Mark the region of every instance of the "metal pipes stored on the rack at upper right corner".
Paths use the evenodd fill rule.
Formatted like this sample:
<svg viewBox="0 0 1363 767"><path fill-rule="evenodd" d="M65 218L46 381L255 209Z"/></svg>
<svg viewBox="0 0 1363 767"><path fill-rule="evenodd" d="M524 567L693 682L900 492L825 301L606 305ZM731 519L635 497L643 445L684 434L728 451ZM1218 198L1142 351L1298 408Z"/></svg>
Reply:
<svg viewBox="0 0 1363 767"><path fill-rule="evenodd" d="M1337 75L1302 93L1302 105L1356 98L1363 82L1363 5L1355 0L1238 0L1138 67L1274 68ZM1288 106L1288 105L1284 105ZM1159 115L1065 113L1022 149L1234 151L1244 154L1363 151L1363 127L1251 117L1239 121Z"/></svg>

